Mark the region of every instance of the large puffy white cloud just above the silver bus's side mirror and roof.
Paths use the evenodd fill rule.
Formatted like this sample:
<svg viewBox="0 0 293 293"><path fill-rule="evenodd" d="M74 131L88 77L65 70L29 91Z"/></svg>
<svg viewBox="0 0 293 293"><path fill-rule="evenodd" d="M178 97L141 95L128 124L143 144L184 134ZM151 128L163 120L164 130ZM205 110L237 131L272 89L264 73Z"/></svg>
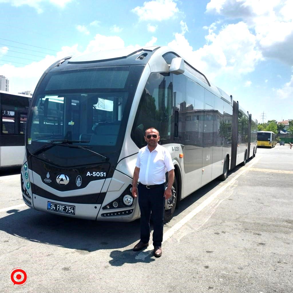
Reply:
<svg viewBox="0 0 293 293"><path fill-rule="evenodd" d="M185 58L193 60L192 64L212 79L228 73L241 75L253 71L262 55L248 26L240 22L222 27L219 33L214 33L214 29L209 28L207 44L196 51L182 33L176 33L175 40L168 45L183 52Z"/></svg>

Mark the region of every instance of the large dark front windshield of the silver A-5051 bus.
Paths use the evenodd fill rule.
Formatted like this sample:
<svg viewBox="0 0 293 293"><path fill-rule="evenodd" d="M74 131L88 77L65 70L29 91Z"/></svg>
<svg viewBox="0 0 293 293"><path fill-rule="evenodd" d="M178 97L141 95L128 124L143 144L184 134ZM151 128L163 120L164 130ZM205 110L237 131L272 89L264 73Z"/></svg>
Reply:
<svg viewBox="0 0 293 293"><path fill-rule="evenodd" d="M48 73L32 101L28 151L34 153L48 141L62 139L102 154L119 151L142 69L126 66Z"/></svg>

